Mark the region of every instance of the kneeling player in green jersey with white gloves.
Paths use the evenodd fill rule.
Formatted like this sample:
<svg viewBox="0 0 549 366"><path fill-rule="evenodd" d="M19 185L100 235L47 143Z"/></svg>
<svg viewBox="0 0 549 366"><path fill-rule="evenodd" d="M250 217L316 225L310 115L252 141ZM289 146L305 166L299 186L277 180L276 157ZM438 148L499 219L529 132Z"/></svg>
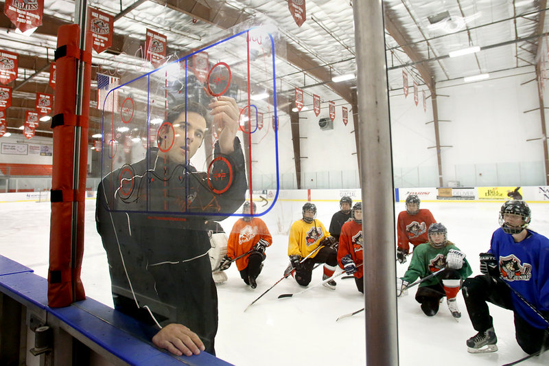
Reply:
<svg viewBox="0 0 549 366"><path fill-rule="evenodd" d="M457 320L461 317L456 303L460 282L473 271L465 259L465 253L447 240L447 229L444 225L440 222L432 224L428 237L428 242L419 244L414 249L408 271L397 281L397 295L406 293L406 286L417 277L427 277L444 268L438 275L419 284L416 300L421 304L425 315L432 317L439 311L439 304L445 296L448 308Z"/></svg>

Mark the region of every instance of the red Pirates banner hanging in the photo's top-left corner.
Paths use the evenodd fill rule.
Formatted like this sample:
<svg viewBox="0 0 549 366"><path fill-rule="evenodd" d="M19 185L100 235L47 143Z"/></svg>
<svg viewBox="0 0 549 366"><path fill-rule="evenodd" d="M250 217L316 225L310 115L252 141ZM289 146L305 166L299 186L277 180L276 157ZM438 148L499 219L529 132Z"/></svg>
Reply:
<svg viewBox="0 0 549 366"><path fill-rule="evenodd" d="M44 0L5 0L4 14L20 30L31 30L42 25Z"/></svg>

